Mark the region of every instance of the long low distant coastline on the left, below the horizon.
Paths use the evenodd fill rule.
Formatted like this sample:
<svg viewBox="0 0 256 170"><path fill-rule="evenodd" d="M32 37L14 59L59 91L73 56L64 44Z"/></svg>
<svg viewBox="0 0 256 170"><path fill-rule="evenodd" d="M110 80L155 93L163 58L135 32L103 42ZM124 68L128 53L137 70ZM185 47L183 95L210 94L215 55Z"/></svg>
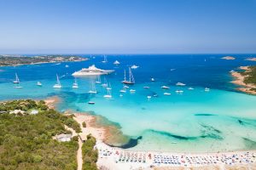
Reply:
<svg viewBox="0 0 256 170"><path fill-rule="evenodd" d="M83 58L77 55L37 55L27 57L20 55L0 54L0 66L35 65L42 63L74 62L84 60L87 60L87 58Z"/></svg>

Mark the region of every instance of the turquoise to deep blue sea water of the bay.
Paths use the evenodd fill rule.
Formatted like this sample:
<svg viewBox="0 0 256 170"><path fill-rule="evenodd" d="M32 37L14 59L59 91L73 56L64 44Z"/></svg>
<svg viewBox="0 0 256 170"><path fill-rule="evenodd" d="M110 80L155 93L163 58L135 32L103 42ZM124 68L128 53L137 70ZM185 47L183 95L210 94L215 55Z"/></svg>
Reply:
<svg viewBox="0 0 256 170"><path fill-rule="evenodd" d="M63 101L59 105L60 111L91 111L105 116L110 122L119 123L121 131L131 139L141 137L136 145L130 144L129 150L255 149L256 97L236 92L236 86L230 83L229 73L240 65L253 65L253 62L244 60L251 55L236 55L236 60L220 59L222 56L108 55L107 64L102 64L102 56L96 56L79 63L1 67L0 99L44 99L58 95ZM113 65L115 59L121 65ZM79 78L79 88L71 88L73 71L91 64L115 70L106 76L113 88L113 99L102 97L107 92L101 85L96 85L98 94L88 94L90 83L95 82L96 77ZM131 88L137 91L131 94L128 89L120 97L124 68L133 64L140 66L133 70L137 83ZM23 88L13 88L15 72ZM61 89L52 88L56 73L61 77ZM155 82L150 82L151 77ZM43 83L43 87L35 85L38 81ZM187 85L177 87L177 82ZM163 85L170 86L170 89L161 89ZM188 90L189 87L195 89ZM205 92L206 87L211 88L210 92ZM177 94L177 89L183 90L183 94ZM166 96L165 92L171 95ZM153 97L154 94L158 96ZM148 99L148 95L152 98ZM88 105L88 101L94 101L96 105Z"/></svg>

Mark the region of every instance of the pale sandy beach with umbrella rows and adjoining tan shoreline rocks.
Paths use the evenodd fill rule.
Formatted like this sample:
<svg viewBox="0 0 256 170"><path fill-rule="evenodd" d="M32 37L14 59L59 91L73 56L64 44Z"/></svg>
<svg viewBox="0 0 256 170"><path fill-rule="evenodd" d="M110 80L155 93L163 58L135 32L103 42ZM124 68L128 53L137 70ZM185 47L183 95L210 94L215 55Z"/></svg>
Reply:
<svg viewBox="0 0 256 170"><path fill-rule="evenodd" d="M54 105L60 102L60 99L52 97L45 99L45 102L54 108ZM131 151L111 147L104 141L108 141L109 136L113 134L108 127L96 125L96 116L87 113L73 113L73 115L73 119L79 122L83 135L92 134L96 138L95 147L99 151L97 161L99 169L253 169L256 167L256 150L218 153L172 153ZM83 122L86 123L86 127L82 127ZM78 157L81 157L79 153Z"/></svg>

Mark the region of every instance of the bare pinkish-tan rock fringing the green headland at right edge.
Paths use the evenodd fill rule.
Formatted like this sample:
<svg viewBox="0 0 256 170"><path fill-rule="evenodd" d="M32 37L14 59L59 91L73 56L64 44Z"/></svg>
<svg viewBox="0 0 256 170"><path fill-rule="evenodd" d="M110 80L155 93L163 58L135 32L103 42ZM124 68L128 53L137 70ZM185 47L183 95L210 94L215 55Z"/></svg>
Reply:
<svg viewBox="0 0 256 170"><path fill-rule="evenodd" d="M241 66L240 69L244 70L244 71L250 71L248 66ZM256 86L253 84L246 84L244 82L245 77L242 76L240 72L233 71L233 72L231 72L231 75L232 75L232 77L235 78L235 80L232 81L233 83L243 86L243 88L237 88L237 90L247 93L247 94L256 94L255 91L251 90L251 88L256 88Z"/></svg>

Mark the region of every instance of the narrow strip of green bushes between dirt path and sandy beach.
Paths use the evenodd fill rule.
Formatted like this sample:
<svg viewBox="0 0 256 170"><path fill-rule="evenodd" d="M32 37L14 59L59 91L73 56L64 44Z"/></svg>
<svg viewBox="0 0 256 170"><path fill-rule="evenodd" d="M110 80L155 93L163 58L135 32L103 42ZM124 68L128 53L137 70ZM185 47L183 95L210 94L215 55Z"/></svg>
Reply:
<svg viewBox="0 0 256 170"><path fill-rule="evenodd" d="M96 139L91 135L87 136L85 140L82 152L83 152L83 170L96 170L96 161L98 159L98 150L94 150Z"/></svg>

